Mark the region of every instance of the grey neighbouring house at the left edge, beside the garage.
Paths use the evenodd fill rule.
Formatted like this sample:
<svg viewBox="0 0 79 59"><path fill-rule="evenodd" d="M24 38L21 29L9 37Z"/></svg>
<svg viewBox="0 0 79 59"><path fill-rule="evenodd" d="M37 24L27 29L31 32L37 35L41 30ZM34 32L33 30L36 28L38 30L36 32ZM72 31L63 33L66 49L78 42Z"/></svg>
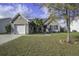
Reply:
<svg viewBox="0 0 79 59"><path fill-rule="evenodd" d="M11 23L11 18L0 19L0 33L6 33L6 26Z"/></svg>

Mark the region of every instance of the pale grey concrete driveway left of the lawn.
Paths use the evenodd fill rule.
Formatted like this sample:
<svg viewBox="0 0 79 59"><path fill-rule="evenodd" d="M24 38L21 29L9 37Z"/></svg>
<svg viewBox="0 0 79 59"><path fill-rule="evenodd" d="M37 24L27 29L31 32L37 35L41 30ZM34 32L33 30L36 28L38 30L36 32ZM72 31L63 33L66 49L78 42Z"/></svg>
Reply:
<svg viewBox="0 0 79 59"><path fill-rule="evenodd" d="M9 35L9 34L5 34L5 35L0 35L0 45L3 43L6 43L8 41L14 40L18 37L20 37L21 35Z"/></svg>

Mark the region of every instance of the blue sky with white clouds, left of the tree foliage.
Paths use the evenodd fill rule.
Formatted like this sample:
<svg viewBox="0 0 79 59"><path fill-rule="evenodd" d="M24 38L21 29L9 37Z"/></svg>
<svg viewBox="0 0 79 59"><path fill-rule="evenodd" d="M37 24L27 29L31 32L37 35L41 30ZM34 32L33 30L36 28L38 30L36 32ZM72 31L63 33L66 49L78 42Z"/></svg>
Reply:
<svg viewBox="0 0 79 59"><path fill-rule="evenodd" d="M48 9L32 3L0 3L0 18L14 17L21 13L30 18L47 18Z"/></svg>

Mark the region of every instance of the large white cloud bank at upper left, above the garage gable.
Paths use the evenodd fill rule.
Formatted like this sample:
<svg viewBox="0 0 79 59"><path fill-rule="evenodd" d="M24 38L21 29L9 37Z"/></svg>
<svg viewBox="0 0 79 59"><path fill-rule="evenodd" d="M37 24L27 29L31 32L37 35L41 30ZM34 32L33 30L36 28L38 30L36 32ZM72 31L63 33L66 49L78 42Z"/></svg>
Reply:
<svg viewBox="0 0 79 59"><path fill-rule="evenodd" d="M32 9L28 8L23 4L12 5L0 5L0 16L3 17L14 17L17 13L29 14L32 13Z"/></svg>

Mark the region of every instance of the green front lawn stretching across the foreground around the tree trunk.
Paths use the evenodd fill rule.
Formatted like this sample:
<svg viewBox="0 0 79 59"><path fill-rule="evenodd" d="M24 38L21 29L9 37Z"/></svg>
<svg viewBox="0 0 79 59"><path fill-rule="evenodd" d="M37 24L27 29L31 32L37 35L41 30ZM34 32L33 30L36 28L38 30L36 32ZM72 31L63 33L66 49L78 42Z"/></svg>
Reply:
<svg viewBox="0 0 79 59"><path fill-rule="evenodd" d="M71 33L73 42L60 43L66 33L52 33L51 36L22 36L0 46L0 55L26 56L75 56L79 55L79 33Z"/></svg>

